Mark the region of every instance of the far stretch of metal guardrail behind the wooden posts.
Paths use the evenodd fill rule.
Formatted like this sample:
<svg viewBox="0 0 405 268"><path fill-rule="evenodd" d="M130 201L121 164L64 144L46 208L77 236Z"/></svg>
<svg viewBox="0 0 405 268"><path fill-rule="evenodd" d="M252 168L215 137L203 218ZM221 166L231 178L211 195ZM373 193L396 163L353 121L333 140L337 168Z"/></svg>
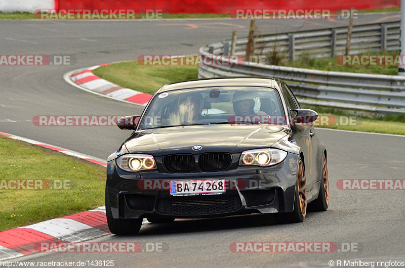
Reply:
<svg viewBox="0 0 405 268"><path fill-rule="evenodd" d="M345 53L346 39L347 27L268 34L256 36L255 54L264 55L276 47L291 60L303 54L310 57L334 57ZM245 53L247 41L247 38L237 41L236 54ZM230 43L230 40L224 42ZM375 50L399 50L399 21L353 26L350 53Z"/></svg>

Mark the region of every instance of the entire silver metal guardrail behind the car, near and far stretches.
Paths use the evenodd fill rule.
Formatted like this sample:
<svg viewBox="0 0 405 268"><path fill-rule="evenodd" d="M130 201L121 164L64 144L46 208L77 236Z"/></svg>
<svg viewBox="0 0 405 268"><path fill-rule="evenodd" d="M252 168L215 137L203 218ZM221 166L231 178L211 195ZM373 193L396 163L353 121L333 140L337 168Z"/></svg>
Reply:
<svg viewBox="0 0 405 268"><path fill-rule="evenodd" d="M279 50L287 52L290 59L303 53L311 57L342 55L346 35L347 28L343 27L270 34L255 40L255 52L265 54L277 43ZM247 41L247 38L237 40L235 54L244 55ZM224 40L210 44L200 48L199 53L211 59L213 55L228 55L229 42L230 40ZM353 26L351 48L351 54L376 49L399 49L399 22ZM405 114L403 76L328 72L252 63L200 65L198 69L199 78L246 75L278 77L291 81L289 85L294 94L306 98L300 99L301 103L354 109L373 115Z"/></svg>

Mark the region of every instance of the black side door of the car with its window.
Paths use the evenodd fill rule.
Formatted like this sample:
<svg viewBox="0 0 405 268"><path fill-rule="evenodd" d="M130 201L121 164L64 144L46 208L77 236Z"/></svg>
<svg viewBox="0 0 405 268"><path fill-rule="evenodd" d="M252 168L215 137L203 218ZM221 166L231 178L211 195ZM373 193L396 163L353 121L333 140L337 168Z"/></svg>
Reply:
<svg viewBox="0 0 405 268"><path fill-rule="evenodd" d="M287 84L281 84L281 92L284 96L286 101L286 105L288 107L288 112L290 116L294 116L291 114L290 109L300 109L300 105L293 95L293 93L288 88ZM291 127L293 130L292 136L294 137L298 146L301 147L301 150L304 154L304 166L305 166L305 175L306 175L306 183L307 183L307 192L311 191L312 187L315 184L316 180L316 172L315 172L315 157L314 153L316 150L313 148L312 143L312 136L314 135L313 132L313 124L296 124L295 126Z"/></svg>

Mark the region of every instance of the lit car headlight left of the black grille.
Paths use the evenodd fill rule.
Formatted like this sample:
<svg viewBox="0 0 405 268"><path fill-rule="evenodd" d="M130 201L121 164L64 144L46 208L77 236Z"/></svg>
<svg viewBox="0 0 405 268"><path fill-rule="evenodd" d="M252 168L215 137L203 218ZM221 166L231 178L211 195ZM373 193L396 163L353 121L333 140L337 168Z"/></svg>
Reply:
<svg viewBox="0 0 405 268"><path fill-rule="evenodd" d="M116 163L120 169L129 172L156 169L155 159L146 154L121 155L116 159Z"/></svg>

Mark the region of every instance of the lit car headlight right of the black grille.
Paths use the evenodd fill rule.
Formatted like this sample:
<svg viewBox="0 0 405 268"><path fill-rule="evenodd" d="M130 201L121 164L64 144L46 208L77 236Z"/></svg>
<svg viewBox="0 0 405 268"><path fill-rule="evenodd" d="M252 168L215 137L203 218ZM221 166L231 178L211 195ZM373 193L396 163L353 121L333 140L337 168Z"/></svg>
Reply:
<svg viewBox="0 0 405 268"><path fill-rule="evenodd" d="M278 149L256 149L245 151L239 159L240 166L271 166L287 157L287 152Z"/></svg>

